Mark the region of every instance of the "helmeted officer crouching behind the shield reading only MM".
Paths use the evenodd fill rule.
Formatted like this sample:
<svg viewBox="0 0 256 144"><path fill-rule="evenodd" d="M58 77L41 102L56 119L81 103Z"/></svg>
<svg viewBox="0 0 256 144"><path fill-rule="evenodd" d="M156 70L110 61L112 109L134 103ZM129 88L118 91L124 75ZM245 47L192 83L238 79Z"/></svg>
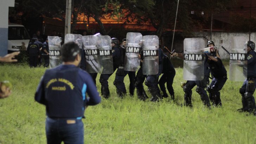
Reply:
<svg viewBox="0 0 256 144"><path fill-rule="evenodd" d="M116 71L114 85L116 86L117 96L123 98L126 94L126 88L123 83L124 79L124 70L123 70L123 59L124 59L124 50L119 45L119 40L117 38L111 39L112 46L112 56L113 56L113 68ZM101 93L104 98L109 98L110 92L108 89L108 79L111 74L101 74L100 83L101 83Z"/></svg>

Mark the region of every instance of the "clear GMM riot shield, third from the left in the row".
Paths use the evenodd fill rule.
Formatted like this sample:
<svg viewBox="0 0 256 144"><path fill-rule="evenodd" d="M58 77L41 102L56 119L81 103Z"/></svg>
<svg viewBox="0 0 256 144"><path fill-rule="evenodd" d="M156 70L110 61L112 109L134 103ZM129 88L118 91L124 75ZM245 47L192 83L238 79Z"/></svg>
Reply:
<svg viewBox="0 0 256 144"><path fill-rule="evenodd" d="M100 60L98 58L97 36L83 36L83 45L85 52L85 67L88 73L100 72Z"/></svg>

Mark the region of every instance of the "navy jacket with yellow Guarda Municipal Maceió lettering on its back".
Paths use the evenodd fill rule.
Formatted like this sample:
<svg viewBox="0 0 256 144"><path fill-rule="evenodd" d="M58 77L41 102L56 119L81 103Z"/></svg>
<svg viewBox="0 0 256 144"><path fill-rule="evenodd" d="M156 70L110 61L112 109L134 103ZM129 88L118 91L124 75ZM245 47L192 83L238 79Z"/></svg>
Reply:
<svg viewBox="0 0 256 144"><path fill-rule="evenodd" d="M75 65L60 65L46 70L35 100L46 106L50 118L79 119L84 117L85 106L100 103L101 97L89 73Z"/></svg>

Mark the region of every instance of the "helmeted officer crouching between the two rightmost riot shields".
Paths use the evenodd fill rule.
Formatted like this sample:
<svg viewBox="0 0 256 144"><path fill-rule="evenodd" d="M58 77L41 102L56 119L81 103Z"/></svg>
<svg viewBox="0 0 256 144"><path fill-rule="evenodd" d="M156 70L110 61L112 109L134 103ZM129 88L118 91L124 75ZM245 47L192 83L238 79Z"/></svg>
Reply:
<svg viewBox="0 0 256 144"><path fill-rule="evenodd" d="M207 47L215 46L213 41L208 41ZM218 50L207 54L207 63L209 64L210 72L212 75L212 82L207 87L209 98L213 106L222 106L220 99L220 90L226 83L227 71L219 57Z"/></svg>

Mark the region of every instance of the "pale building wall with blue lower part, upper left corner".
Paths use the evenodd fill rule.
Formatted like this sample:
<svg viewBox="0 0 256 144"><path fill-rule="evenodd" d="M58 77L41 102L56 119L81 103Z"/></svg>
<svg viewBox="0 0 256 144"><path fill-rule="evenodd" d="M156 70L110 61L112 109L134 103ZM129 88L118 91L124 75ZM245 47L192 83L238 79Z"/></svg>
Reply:
<svg viewBox="0 0 256 144"><path fill-rule="evenodd" d="M14 7L15 0L0 0L0 56L8 49L8 14L9 7Z"/></svg>

